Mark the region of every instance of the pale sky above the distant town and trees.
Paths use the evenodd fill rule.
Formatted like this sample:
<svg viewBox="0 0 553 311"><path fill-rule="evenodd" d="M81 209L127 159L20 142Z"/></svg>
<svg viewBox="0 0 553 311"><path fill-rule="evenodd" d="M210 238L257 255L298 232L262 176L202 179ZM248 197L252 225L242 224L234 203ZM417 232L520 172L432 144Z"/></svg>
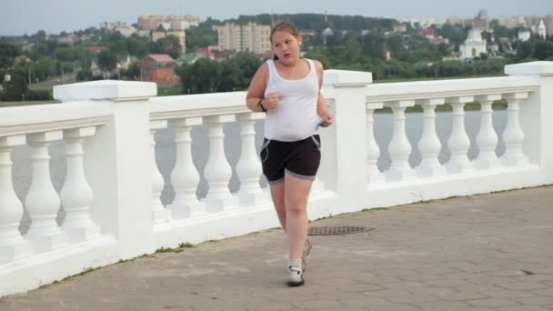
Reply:
<svg viewBox="0 0 553 311"><path fill-rule="evenodd" d="M101 22L136 23L139 15L191 14L216 19L238 15L315 13L393 18L553 15L552 0L2 0L0 35L72 32Z"/></svg>

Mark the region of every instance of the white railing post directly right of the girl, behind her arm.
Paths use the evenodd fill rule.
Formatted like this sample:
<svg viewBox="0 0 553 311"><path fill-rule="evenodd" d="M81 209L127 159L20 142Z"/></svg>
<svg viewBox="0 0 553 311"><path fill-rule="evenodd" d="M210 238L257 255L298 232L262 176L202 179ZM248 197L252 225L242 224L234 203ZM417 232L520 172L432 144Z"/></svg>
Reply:
<svg viewBox="0 0 553 311"><path fill-rule="evenodd" d="M321 180L337 192L341 212L367 207L367 85L366 72L326 70L323 95L335 114L334 125L321 130L324 154Z"/></svg>

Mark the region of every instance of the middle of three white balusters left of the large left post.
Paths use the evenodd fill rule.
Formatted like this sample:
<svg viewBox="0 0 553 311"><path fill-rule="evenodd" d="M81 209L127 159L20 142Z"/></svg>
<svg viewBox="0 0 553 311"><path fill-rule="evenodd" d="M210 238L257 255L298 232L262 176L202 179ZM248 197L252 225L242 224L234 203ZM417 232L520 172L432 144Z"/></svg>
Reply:
<svg viewBox="0 0 553 311"><path fill-rule="evenodd" d="M25 196L25 208L31 218L31 226L25 235L36 252L47 251L67 243L67 236L57 226L55 218L60 208L60 199L50 177L48 145L62 139L62 131L50 131L27 135L32 147L33 177Z"/></svg>

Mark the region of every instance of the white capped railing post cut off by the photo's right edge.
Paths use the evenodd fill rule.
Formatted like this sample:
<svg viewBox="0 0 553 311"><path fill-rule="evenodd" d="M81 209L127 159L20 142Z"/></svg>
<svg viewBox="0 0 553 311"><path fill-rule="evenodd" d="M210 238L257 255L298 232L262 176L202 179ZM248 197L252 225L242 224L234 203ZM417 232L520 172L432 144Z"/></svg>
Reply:
<svg viewBox="0 0 553 311"><path fill-rule="evenodd" d="M522 148L528 161L553 183L553 62L531 62L505 67L507 75L524 75L538 81L538 92L531 93L519 111L519 125L527 139Z"/></svg>

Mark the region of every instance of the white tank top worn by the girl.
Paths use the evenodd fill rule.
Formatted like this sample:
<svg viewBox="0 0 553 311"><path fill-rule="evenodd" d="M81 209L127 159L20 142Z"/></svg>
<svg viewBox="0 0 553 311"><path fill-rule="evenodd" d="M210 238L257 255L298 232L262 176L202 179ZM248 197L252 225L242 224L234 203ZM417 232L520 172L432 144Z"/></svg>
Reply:
<svg viewBox="0 0 553 311"><path fill-rule="evenodd" d="M272 59L266 61L269 80L265 96L276 93L277 109L269 110L265 119L265 137L282 142L295 142L317 134L317 98L319 93L315 63L306 59L309 73L299 80L287 80L278 75Z"/></svg>

